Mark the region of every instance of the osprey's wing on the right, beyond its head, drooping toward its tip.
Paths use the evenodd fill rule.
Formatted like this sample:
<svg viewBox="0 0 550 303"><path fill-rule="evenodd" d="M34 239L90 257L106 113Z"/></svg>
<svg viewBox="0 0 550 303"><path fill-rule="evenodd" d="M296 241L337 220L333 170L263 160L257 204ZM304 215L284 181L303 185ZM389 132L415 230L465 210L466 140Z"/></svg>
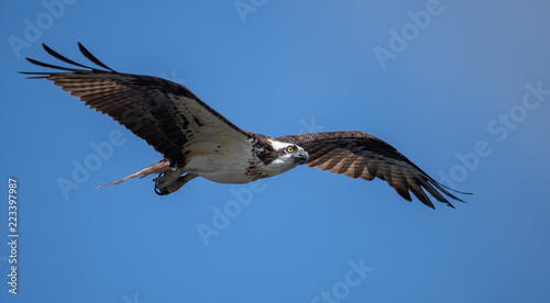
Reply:
<svg viewBox="0 0 550 303"><path fill-rule="evenodd" d="M309 167L369 181L377 177L386 180L408 201L411 201L411 191L424 204L435 209L422 189L451 207L453 205L443 194L462 201L393 146L362 132L314 133L276 139L304 147L309 153L309 160L306 162Z"/></svg>

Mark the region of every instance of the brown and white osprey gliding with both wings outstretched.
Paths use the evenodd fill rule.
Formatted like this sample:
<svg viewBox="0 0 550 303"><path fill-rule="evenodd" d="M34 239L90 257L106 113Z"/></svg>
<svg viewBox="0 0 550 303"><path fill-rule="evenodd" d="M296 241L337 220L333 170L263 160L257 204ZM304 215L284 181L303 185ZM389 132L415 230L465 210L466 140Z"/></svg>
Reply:
<svg viewBox="0 0 550 303"><path fill-rule="evenodd" d="M351 178L373 180L377 177L404 199L411 201L410 191L432 209L424 190L451 207L453 205L444 195L462 201L450 192L452 189L437 182L393 146L370 134L331 132L273 138L252 133L235 126L183 85L118 72L80 43L82 55L101 68L78 64L44 44L43 47L73 67L26 58L32 64L63 71L22 74L54 81L62 90L78 97L90 109L108 114L163 155L158 162L106 186L158 173L153 179L155 192L168 194L197 177L219 183L248 183L305 164Z"/></svg>

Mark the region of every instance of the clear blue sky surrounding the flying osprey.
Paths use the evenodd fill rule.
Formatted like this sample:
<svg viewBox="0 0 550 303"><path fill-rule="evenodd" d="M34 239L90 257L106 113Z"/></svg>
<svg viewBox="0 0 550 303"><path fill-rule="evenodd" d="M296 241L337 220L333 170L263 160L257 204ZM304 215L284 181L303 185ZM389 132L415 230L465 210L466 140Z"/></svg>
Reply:
<svg viewBox="0 0 550 303"><path fill-rule="evenodd" d="M550 302L548 1L2 7L0 237L15 177L20 238L18 295L0 246L0 302ZM24 60L51 60L41 43L84 60L77 42L117 70L185 82L244 130L364 131L474 194L433 211L307 167L168 197L152 178L98 190L161 156L15 74L43 70Z"/></svg>

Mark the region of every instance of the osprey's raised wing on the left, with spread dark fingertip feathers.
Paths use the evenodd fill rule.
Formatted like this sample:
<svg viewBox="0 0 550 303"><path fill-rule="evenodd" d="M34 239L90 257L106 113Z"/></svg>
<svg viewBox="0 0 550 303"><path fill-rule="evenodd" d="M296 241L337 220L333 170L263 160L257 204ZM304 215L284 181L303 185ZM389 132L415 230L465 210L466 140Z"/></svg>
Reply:
<svg viewBox="0 0 550 303"><path fill-rule="evenodd" d="M237 127L179 83L118 72L99 61L80 43L82 55L103 69L78 64L43 46L50 55L81 69L28 58L32 64L64 71L22 74L52 80L62 90L85 101L90 109L108 114L145 139L169 159L172 166L185 164L183 148L193 142L222 137L232 144L250 146L251 133Z"/></svg>

